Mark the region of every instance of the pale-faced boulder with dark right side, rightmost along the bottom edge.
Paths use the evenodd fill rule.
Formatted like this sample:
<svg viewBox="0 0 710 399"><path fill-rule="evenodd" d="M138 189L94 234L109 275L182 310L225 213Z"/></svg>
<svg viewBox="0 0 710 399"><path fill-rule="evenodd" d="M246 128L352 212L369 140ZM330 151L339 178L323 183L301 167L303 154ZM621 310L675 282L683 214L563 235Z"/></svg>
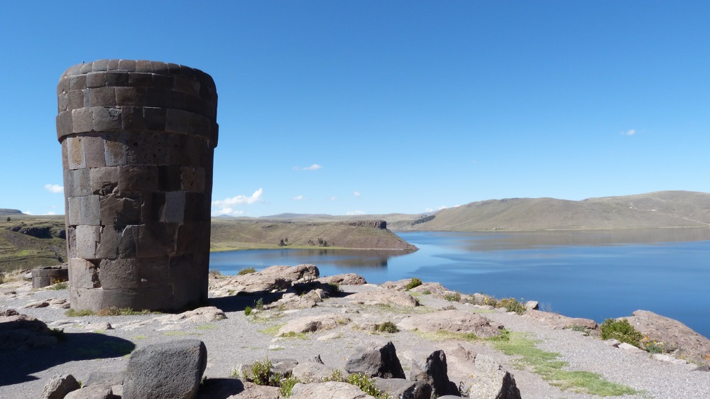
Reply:
<svg viewBox="0 0 710 399"><path fill-rule="evenodd" d="M490 356L478 354L474 361L474 383L469 398L520 399L515 378Z"/></svg>

